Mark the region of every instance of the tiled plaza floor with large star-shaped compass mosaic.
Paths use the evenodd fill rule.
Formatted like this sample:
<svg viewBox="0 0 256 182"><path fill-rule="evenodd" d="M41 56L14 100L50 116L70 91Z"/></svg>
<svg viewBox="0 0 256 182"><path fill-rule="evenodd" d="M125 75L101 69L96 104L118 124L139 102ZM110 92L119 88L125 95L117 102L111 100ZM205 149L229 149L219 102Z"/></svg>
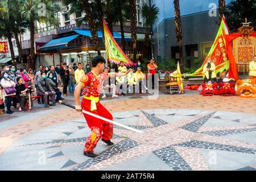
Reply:
<svg viewBox="0 0 256 182"><path fill-rule="evenodd" d="M115 126L114 146L100 141L90 159L82 114L36 105L0 116L0 170L256 170L255 98L132 95L102 104L143 133Z"/></svg>

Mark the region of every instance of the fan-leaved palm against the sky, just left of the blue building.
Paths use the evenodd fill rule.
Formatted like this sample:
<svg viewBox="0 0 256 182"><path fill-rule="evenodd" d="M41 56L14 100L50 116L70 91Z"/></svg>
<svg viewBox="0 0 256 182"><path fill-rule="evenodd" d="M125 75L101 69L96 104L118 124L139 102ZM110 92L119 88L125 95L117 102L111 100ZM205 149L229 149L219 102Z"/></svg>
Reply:
<svg viewBox="0 0 256 182"><path fill-rule="evenodd" d="M150 0L151 1L151 0ZM151 5L151 3L150 3ZM155 5L148 7L146 3L143 4L142 6L142 16L146 19L144 25L146 27L150 27L150 31L151 31L151 40L153 39L153 31L152 31L152 26L153 24L155 24L156 22L158 22L158 15L159 15L159 8L156 7ZM146 35L145 35L146 38ZM154 55L153 53L153 45L150 42L150 46L151 46L151 54L152 57Z"/></svg>

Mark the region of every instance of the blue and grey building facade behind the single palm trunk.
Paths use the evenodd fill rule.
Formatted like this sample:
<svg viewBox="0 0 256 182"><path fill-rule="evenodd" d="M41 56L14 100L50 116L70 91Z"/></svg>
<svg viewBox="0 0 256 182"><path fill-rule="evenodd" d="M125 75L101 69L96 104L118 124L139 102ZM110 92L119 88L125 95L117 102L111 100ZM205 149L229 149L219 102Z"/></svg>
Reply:
<svg viewBox="0 0 256 182"><path fill-rule="evenodd" d="M231 0L226 1L226 4ZM154 55L157 60L179 60L179 47L175 32L175 10L173 1L153 0L159 7L159 20L153 27ZM183 59L185 67L193 67L193 60L204 60L218 31L217 0L180 1L181 27L183 35Z"/></svg>

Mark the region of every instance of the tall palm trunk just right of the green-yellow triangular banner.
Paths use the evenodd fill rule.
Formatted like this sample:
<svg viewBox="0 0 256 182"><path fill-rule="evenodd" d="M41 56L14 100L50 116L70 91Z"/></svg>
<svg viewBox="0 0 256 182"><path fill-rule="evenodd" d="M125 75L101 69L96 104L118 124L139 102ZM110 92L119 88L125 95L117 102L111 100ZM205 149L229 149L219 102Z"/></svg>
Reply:
<svg viewBox="0 0 256 182"><path fill-rule="evenodd" d="M133 39L133 62L137 58L137 19L135 14L135 1L129 0L130 4L130 19L131 19L131 39Z"/></svg>

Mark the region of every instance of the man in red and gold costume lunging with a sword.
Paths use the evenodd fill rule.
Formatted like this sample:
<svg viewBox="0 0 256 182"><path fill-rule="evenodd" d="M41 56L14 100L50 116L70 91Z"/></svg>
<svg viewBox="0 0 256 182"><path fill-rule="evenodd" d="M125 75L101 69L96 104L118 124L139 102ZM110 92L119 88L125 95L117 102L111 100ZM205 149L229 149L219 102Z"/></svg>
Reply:
<svg viewBox="0 0 256 182"><path fill-rule="evenodd" d="M104 80L110 77L112 73L104 73L104 65L106 60L102 56L96 56L92 60L92 71L86 73L77 84L75 88L75 102L76 102L76 110L81 111L86 110L93 114L100 115L101 117L113 120L112 114L101 105L99 101L100 91L103 86ZM126 76L127 73L113 73L113 76ZM82 90L82 102L80 106L80 93ZM97 155L93 153L93 149L96 147L98 140L102 137L102 141L108 145L113 145L111 142L113 136L113 124L102 121L101 119L95 118L91 115L84 114L86 122L92 131L92 134L87 138L85 147L84 147L84 155L89 156L91 158L96 157Z"/></svg>

